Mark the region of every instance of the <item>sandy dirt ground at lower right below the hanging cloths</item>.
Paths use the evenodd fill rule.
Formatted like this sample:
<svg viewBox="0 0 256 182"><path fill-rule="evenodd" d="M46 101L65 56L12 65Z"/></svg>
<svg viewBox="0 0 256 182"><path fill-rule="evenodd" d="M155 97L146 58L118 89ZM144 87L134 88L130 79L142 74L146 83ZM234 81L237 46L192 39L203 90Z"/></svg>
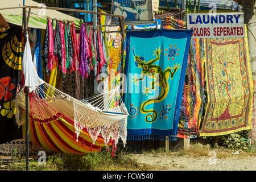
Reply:
<svg viewBox="0 0 256 182"><path fill-rule="evenodd" d="M256 171L256 156L233 154L225 159L209 156L175 154L133 154L139 164L155 166L156 170L185 171Z"/></svg>

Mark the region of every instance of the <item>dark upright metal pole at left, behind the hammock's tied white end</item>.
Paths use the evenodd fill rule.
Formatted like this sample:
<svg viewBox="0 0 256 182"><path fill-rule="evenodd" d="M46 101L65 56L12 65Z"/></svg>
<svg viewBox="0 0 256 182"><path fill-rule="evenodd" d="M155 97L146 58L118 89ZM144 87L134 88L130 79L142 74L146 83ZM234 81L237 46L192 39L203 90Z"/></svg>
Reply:
<svg viewBox="0 0 256 182"><path fill-rule="evenodd" d="M25 0L23 0L23 6L25 6ZM26 44L27 39L27 15L26 15L26 7L23 7L23 32L24 32L24 43ZM28 171L29 167L29 136L28 136L28 87L25 87L26 92L26 171Z"/></svg>

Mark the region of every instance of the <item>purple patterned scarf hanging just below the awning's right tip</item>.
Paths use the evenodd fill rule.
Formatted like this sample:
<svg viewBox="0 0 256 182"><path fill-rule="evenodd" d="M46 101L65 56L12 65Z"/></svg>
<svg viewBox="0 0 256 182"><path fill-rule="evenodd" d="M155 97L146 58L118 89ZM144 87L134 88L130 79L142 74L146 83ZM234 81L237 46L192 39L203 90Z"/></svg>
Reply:
<svg viewBox="0 0 256 182"><path fill-rule="evenodd" d="M79 71L82 75L82 78L85 77L86 69L87 69L87 51L86 51L86 42L85 42L85 32L84 32L84 24L81 26L80 32L80 49L79 49L79 57L80 57L80 64L79 64Z"/></svg>

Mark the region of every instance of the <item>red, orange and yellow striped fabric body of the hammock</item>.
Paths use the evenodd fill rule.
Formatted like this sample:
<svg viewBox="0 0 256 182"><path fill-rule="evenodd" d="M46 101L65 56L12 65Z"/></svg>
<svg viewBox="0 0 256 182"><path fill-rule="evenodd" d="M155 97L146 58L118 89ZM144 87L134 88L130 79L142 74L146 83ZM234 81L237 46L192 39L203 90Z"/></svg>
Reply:
<svg viewBox="0 0 256 182"><path fill-rule="evenodd" d="M58 118L51 119L48 122L38 122L36 119L31 119L30 140L38 147L76 155L96 151L100 152L101 147L106 146L101 136L98 136L93 144L93 140L90 138L86 129L80 132L78 142L76 142L74 122L63 114L60 114ZM114 140L110 140L107 146L111 146L113 142Z"/></svg>

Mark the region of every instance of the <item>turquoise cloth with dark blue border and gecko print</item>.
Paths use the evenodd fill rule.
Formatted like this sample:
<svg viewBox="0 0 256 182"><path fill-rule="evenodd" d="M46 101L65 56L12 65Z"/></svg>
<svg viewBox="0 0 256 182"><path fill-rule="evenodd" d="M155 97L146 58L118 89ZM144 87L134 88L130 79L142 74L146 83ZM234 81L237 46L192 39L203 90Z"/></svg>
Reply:
<svg viewBox="0 0 256 182"><path fill-rule="evenodd" d="M130 113L128 139L176 136L191 36L191 30L127 32L123 100Z"/></svg>

